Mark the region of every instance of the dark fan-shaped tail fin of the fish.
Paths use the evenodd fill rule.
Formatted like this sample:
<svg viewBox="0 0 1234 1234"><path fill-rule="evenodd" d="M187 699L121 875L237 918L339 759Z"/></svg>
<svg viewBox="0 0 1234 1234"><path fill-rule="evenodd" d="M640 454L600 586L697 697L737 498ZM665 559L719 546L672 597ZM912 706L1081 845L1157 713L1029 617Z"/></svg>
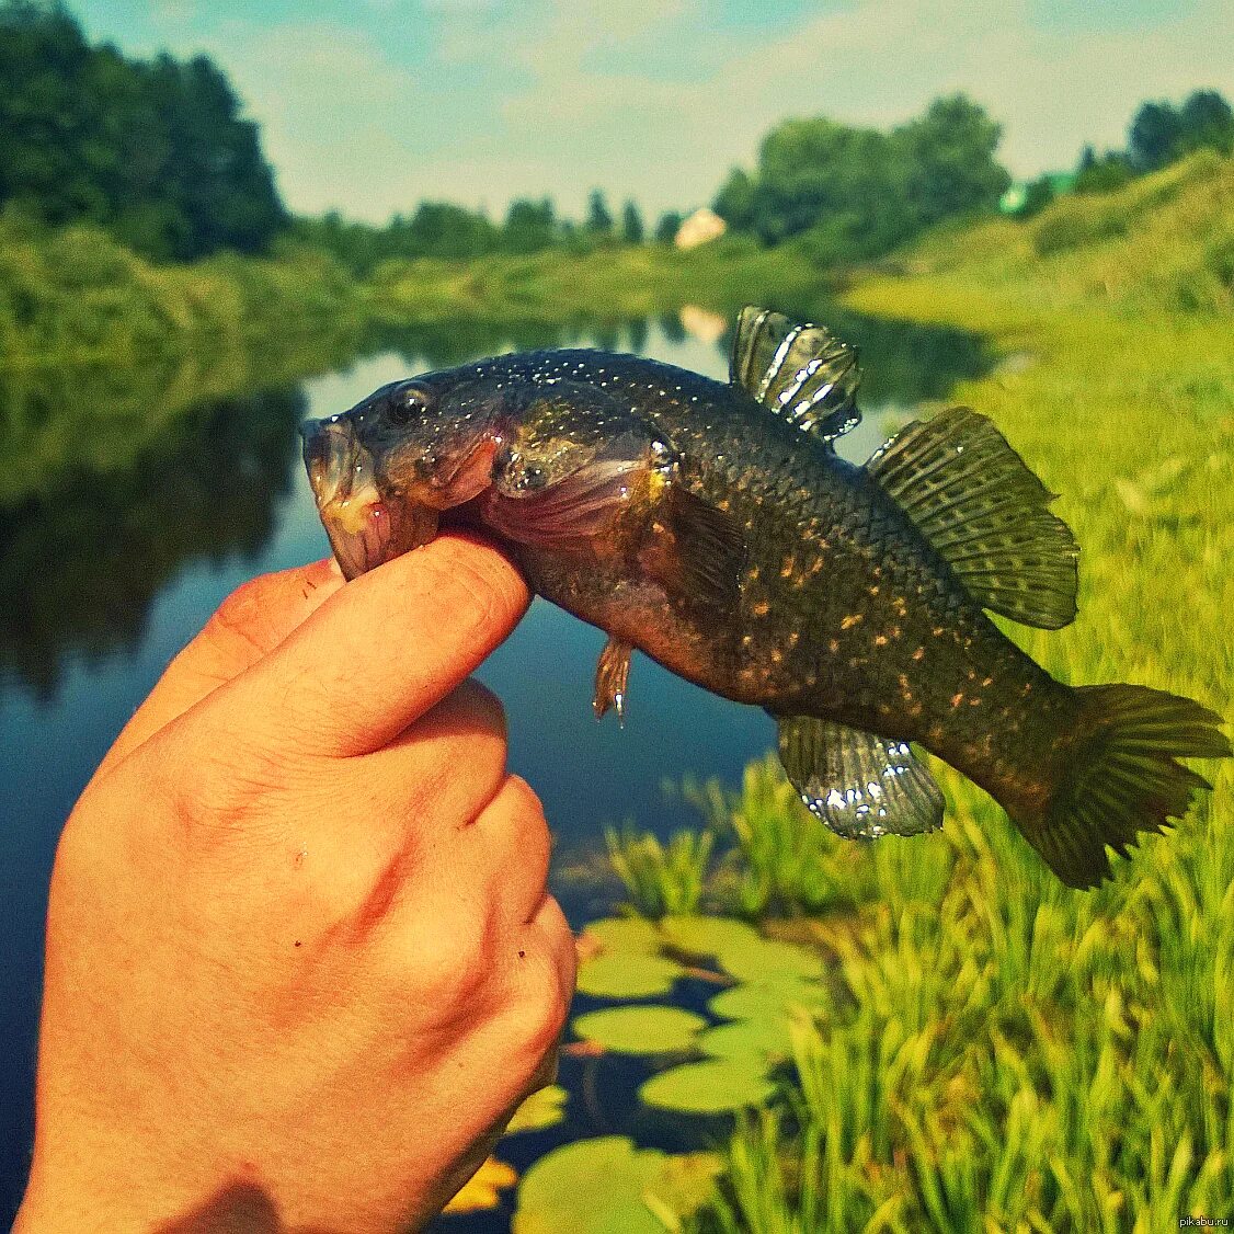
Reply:
<svg viewBox="0 0 1234 1234"><path fill-rule="evenodd" d="M1054 782L1012 821L1069 887L1109 875L1106 845L1125 856L1139 832L1181 818L1212 785L1177 760L1230 755L1222 717L1191 698L1146 686L1077 686L1075 739Z"/></svg>

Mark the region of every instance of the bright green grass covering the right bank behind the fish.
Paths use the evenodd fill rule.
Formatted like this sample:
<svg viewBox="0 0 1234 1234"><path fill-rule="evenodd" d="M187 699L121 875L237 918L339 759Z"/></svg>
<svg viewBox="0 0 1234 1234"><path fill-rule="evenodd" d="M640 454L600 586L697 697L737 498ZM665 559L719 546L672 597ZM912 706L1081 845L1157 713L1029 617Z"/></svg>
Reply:
<svg viewBox="0 0 1234 1234"><path fill-rule="evenodd" d="M848 302L983 331L963 385L1080 540L1080 616L1007 626L1071 682L1234 714L1234 163L935 236ZM1225 247L1223 247L1225 246ZM703 902L795 914L829 961L779 1101L734 1133L705 1230L1149 1232L1234 1213L1234 774L1090 893L935 764L940 835L823 833L774 760L691 792ZM764 922L765 927L776 927Z"/></svg>

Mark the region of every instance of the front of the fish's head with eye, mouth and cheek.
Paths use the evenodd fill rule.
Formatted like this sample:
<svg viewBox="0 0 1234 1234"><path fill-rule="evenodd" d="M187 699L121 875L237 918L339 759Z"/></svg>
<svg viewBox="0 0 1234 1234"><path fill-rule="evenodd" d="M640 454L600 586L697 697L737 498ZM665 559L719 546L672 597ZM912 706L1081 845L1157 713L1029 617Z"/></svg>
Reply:
<svg viewBox="0 0 1234 1234"><path fill-rule="evenodd" d="M491 383L442 373L306 421L305 468L344 578L428 543L443 511L482 494L505 420Z"/></svg>

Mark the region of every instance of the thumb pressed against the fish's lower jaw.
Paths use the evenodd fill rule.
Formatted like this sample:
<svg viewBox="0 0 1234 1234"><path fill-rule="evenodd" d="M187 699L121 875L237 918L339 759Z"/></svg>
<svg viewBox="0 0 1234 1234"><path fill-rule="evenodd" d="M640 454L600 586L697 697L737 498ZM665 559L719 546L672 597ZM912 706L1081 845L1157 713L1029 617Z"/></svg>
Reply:
<svg viewBox="0 0 1234 1234"><path fill-rule="evenodd" d="M470 676L528 601L496 549L443 536L336 591L211 702L269 747L378 750Z"/></svg>

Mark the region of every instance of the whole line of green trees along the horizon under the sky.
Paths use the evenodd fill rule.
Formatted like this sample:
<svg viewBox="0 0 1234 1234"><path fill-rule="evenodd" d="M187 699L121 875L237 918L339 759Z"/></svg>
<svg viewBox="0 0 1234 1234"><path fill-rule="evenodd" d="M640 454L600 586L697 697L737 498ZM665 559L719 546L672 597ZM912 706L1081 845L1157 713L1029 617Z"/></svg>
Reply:
<svg viewBox="0 0 1234 1234"><path fill-rule="evenodd" d="M1001 135L963 94L888 131L786 120L754 168L729 173L713 209L738 236L792 242L819 265L876 258L943 220L992 211L1011 183L996 158ZM1234 148L1234 114L1219 94L1146 102L1124 151L1085 148L1075 188L1117 188L1201 147ZM1035 181L1023 212L1053 193L1049 178ZM445 201L384 226L337 211L292 218L258 126L216 64L91 46L62 0L0 0L0 207L52 226L101 226L154 260L264 253L285 239L362 275L386 260L671 243L682 218L670 211L649 227L634 201L615 212L598 189L581 221L547 196L511 202L501 220Z"/></svg>

